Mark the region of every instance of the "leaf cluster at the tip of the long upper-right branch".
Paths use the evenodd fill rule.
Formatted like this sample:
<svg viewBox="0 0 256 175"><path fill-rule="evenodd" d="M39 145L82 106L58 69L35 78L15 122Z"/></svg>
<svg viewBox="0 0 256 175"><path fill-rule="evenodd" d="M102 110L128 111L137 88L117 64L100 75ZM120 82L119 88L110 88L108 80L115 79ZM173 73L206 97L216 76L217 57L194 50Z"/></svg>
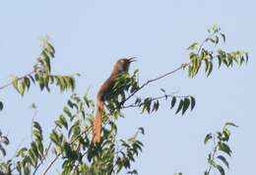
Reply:
<svg viewBox="0 0 256 175"><path fill-rule="evenodd" d="M221 28L214 26L208 29L208 32L209 35L201 44L194 42L188 47L190 63L186 67L190 78L198 74L201 65L205 65L205 74L210 76L214 69L215 60L218 61L219 68L222 65L228 68L233 64L242 65L244 62L248 62L247 52L239 50L228 52L218 47L221 42L220 38L225 42L225 34L221 32ZM208 47L205 47L206 44L208 44ZM209 47L215 49L208 49Z"/></svg>

